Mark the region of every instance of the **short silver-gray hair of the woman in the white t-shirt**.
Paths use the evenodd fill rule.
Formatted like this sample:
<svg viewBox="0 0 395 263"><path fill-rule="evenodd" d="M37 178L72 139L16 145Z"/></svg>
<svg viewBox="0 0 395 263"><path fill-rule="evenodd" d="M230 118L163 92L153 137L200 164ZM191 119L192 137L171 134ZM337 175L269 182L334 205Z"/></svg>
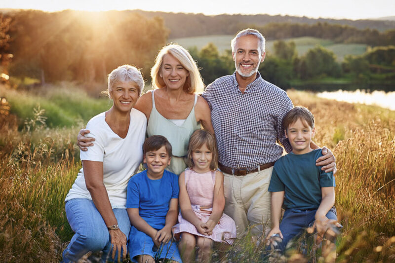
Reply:
<svg viewBox="0 0 395 263"><path fill-rule="evenodd" d="M108 75L107 93L110 92L112 87L118 82L134 82L138 86L139 96L144 88L144 79L140 71L130 65L122 65L113 70Z"/></svg>

